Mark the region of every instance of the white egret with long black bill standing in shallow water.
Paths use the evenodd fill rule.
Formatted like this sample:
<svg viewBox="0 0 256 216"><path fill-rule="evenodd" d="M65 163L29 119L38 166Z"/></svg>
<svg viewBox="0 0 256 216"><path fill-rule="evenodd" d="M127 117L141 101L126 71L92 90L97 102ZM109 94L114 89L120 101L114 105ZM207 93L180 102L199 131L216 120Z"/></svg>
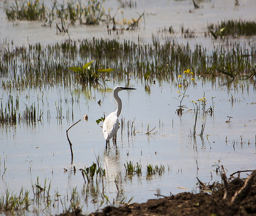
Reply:
<svg viewBox="0 0 256 216"><path fill-rule="evenodd" d="M119 128L118 117L122 110L122 101L118 96L118 92L122 90L129 90L129 89L136 90L136 88L126 88L123 86L116 86L113 89L112 93L110 94L110 101L112 102L111 96L113 95L117 103L117 108L116 108L116 111L109 113L103 122L102 133L103 133L104 139L106 139L106 148L108 148L107 144L109 143L109 140L112 137L114 142L116 142L116 133Z"/></svg>

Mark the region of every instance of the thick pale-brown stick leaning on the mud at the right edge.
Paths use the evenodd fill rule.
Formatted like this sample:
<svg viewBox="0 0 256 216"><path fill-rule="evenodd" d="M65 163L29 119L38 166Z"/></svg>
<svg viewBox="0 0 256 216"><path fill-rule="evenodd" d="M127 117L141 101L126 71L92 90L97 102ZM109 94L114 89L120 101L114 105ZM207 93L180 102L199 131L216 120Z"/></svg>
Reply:
<svg viewBox="0 0 256 216"><path fill-rule="evenodd" d="M234 203L234 202L240 203L243 200L243 198L247 195L248 191L252 187L252 181L255 178L255 176L256 176L256 170L254 170L252 174L245 180L244 186L240 190L236 191L236 193L231 199L231 203Z"/></svg>

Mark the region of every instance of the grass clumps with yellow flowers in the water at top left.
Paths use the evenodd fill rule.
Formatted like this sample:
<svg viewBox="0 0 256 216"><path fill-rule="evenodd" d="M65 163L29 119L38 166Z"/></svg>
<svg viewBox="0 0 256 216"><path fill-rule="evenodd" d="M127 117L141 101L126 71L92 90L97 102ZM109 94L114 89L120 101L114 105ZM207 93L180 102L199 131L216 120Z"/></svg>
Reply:
<svg viewBox="0 0 256 216"><path fill-rule="evenodd" d="M107 14L102 6L102 2L98 0L89 0L87 3L84 3L81 0L69 0L62 4L57 4L57 1L53 0L51 9L44 6L44 1L39 2L39 0L35 0L33 2L29 0L18 3L18 1L15 0L15 3L6 5L4 9L5 15L9 21L14 21L16 19L29 21L40 20L44 21L42 26L52 27L53 20L56 18L60 19L61 26L59 26L60 23L58 25L58 20L56 22L57 33L68 34L68 26L75 26L76 22L79 22L80 25L106 24L108 34L111 34L111 29L109 28L110 24L113 25L112 31L116 31L116 34L123 34L124 30L131 31L139 28L139 22L144 18L144 12L139 14L140 16L138 19L132 18L127 21L127 19L124 18L124 12L121 11L123 19L119 21L115 20L118 11L119 9L114 16L111 16L109 9ZM67 22L69 23L67 24ZM119 26L119 28L116 26Z"/></svg>

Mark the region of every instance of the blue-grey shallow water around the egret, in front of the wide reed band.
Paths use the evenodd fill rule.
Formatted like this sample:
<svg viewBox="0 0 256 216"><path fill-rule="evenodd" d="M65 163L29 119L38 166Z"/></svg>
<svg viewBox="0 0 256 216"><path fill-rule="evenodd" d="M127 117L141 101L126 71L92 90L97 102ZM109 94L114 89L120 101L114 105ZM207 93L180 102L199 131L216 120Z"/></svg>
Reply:
<svg viewBox="0 0 256 216"><path fill-rule="evenodd" d="M86 101L81 95L80 103L75 103L73 106L74 122L81 119L85 114L88 115L89 119L88 122L82 120L68 132L74 152L72 165L66 130L73 123L71 118L69 118L70 122L67 122L66 118L61 122L56 120L55 101L58 100L58 95L54 91L44 92L44 95L48 97L52 116L49 123L44 117L42 123L36 123L34 126L21 124L15 127L5 126L1 130L1 174L3 174L4 165L7 168L3 179L0 181L1 192L4 192L6 186L12 190L20 190L21 186L30 189L31 183L36 182L37 176L39 176L41 184L45 178L48 179L48 182L51 180L52 196L54 196L53 189L56 190L56 188L63 197L67 190L69 191L76 186L77 191L80 192L83 189L84 180L78 169L84 168L85 165L91 166L92 161L96 162L95 154L99 155L102 167L107 169L105 193L111 200L116 198L118 194L113 182L113 175L120 172L123 180L120 183L120 188L124 190L121 195L128 197L128 199L134 196L134 202L144 202L148 198L155 198L154 193L157 189L160 189L161 194L165 196L168 196L170 192L176 194L184 191L184 189L177 187L187 188L186 191L197 191L197 172L199 179L204 182L220 181L220 177L215 173L215 164L223 164L227 169L227 175L237 170L255 168L255 104L250 104L252 101L256 101L253 86L250 85L248 92L245 90L242 93L239 88L236 91L234 89L228 91L227 87L221 85L212 88L211 83L205 83L204 88L202 88L199 83L200 80L197 81L196 87L188 89L189 100L195 101L202 98L205 93L206 108L209 108L212 102L211 97L216 97L214 99L214 116L205 115L206 126L202 138L198 135L194 141L190 137L190 130L193 130L195 121L194 111L184 112L181 117L175 113L178 101L173 96L177 97L177 93L173 87L171 90L170 84L151 85L151 93L148 94L141 84L133 82L132 86L137 90L129 94L123 91L119 95L123 101L121 115L124 116L125 123L128 120L133 121L135 118L136 136L128 136L127 127L121 136L119 129L117 147L110 142L111 147L107 151L99 126L101 124L97 125L95 121L103 116L103 112L108 113L115 109L109 100L110 92L104 94L101 91L92 91L94 98L89 101ZM109 88L114 86L115 84L108 83ZM234 102L232 105L230 102L231 94L240 101ZM6 93L1 93L1 95L2 100L6 99ZM36 93L30 92L29 95L30 102L37 101ZM69 100L69 97L70 95L66 99ZM63 94L62 98L64 103L66 99L64 100ZM101 106L97 103L100 99L102 101ZM20 100L25 101L24 95L20 95ZM46 99L43 98L43 100ZM189 108L193 108L189 100L186 99L184 103ZM44 103L46 104L45 101ZM39 106L42 106L40 100ZM65 108L63 109L65 113ZM226 116L233 117L230 123L225 122L228 120ZM201 112L196 125L196 134L200 133L203 121L204 116ZM152 131L156 132L155 134L145 134L148 124L150 129L156 127ZM206 135L208 135L211 148ZM243 145L241 145L240 135ZM235 149L233 140L236 142ZM248 142L251 144L248 145ZM6 156L7 159L5 160ZM142 176L140 178L136 175L131 179L124 178L124 163L130 160L134 164L137 161L141 162ZM164 165L164 175L147 178L147 164ZM75 175L73 166L77 170ZM170 166L169 171L168 166ZM68 172L64 173L64 168ZM88 206L85 205L84 212L96 210L100 203L92 205L90 203L92 197L88 196ZM56 209L52 211L55 212Z"/></svg>

